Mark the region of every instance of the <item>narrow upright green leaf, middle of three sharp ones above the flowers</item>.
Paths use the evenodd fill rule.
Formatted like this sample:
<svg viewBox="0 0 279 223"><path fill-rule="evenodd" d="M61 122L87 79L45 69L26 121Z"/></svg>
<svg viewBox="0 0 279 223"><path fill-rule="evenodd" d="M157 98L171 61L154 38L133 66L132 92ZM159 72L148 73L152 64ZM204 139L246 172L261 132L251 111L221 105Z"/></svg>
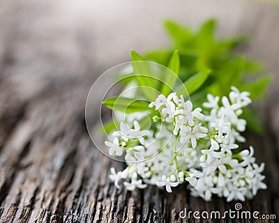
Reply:
<svg viewBox="0 0 279 223"><path fill-rule="evenodd" d="M177 50L174 51L172 57L169 59L169 64L167 68L169 68L169 70L172 70L172 72L167 70L167 72L163 75L163 83L161 84L160 89L160 93L162 93L165 96L169 95L169 93L172 92L173 86L179 79L178 75L180 70L180 59L179 52Z"/></svg>

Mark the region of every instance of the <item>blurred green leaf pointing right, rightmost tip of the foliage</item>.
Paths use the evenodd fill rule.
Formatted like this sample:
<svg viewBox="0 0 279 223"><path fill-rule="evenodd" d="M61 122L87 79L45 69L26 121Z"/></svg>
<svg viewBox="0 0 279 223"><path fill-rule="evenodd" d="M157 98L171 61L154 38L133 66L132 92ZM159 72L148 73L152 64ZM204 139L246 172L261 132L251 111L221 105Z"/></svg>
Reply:
<svg viewBox="0 0 279 223"><path fill-rule="evenodd" d="M257 79L255 82L252 82L250 84L246 84L239 87L240 91L249 91L250 92L250 98L255 99L259 98L261 96L266 86L271 82L271 76L261 77Z"/></svg>

